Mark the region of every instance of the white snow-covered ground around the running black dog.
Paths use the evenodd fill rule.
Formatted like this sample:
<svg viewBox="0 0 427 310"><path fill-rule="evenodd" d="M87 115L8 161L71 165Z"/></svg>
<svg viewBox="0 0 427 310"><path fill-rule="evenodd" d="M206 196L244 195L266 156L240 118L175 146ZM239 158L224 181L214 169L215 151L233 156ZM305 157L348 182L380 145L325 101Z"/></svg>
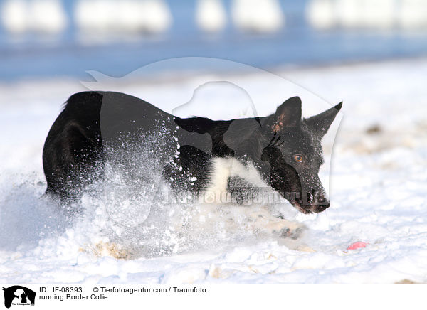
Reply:
<svg viewBox="0 0 427 310"><path fill-rule="evenodd" d="M85 196L83 213L71 217L39 199L46 188L41 152L61 104L85 87L69 79L0 85L0 282L426 283L427 60L277 73L331 104L344 101L329 184L327 173L321 175L331 208L302 215L288 204L278 206L307 227L292 244L253 230L248 208L241 206L209 216L198 205L172 205L157 215L158 222L126 227L112 219L108 201ZM176 102L189 80L135 80L121 90ZM266 98L275 92L262 75L233 80L255 85L254 92ZM233 91L206 91L212 102L238 101ZM280 103L267 101L257 105L259 114ZM303 110L305 105L310 106L303 100ZM241 116L210 107L206 116ZM315 109L307 110L308 116ZM327 162L333 141L332 132L325 139ZM118 205L130 208L123 201ZM185 228L174 229L184 222ZM358 240L367 247L347 250ZM292 250L295 244L312 251Z"/></svg>

